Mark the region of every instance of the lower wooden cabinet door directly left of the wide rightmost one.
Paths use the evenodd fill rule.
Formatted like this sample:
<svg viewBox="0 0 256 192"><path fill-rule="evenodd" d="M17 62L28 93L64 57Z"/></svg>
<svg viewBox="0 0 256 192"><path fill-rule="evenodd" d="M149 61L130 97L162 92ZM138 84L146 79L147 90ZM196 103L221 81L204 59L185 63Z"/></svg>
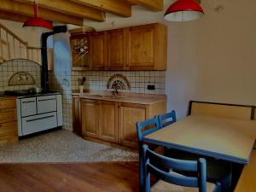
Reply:
<svg viewBox="0 0 256 192"><path fill-rule="evenodd" d="M102 101L100 104L99 119L100 138L118 142L118 105L116 102Z"/></svg>

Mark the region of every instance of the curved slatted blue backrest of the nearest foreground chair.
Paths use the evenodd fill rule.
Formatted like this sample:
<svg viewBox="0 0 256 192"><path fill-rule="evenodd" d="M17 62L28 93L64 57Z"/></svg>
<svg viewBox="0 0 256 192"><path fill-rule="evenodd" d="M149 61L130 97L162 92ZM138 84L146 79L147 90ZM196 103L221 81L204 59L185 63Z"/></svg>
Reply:
<svg viewBox="0 0 256 192"><path fill-rule="evenodd" d="M207 192L207 162L199 160L177 160L157 154L143 145L145 192L150 192L150 173L167 183L185 187L199 188L200 192ZM160 166L164 169L160 169ZM187 177L168 170L181 172L197 172L198 177Z"/></svg>

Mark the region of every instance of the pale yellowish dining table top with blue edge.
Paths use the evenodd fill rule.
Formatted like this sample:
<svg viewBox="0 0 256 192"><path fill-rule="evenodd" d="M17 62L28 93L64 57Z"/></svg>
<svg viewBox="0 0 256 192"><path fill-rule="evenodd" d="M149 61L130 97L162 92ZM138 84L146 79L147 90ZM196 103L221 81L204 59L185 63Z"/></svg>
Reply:
<svg viewBox="0 0 256 192"><path fill-rule="evenodd" d="M256 121L190 115L144 137L146 143L247 164L256 138Z"/></svg>

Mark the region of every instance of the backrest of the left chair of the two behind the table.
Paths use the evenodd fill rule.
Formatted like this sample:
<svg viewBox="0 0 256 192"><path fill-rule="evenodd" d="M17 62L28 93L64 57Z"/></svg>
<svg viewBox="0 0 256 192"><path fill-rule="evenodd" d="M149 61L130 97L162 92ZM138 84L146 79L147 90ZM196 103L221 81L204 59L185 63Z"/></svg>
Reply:
<svg viewBox="0 0 256 192"><path fill-rule="evenodd" d="M142 122L137 122L138 142L142 143L143 137L159 129L160 129L160 125L159 125L158 117L154 117L153 119L146 119Z"/></svg>

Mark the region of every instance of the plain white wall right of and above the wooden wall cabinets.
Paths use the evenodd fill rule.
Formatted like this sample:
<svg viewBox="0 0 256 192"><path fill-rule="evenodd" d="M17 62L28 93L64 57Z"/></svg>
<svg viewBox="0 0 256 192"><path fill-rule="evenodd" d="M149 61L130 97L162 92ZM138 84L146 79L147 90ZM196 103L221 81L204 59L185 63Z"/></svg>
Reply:
<svg viewBox="0 0 256 192"><path fill-rule="evenodd" d="M166 0L166 7L170 3ZM224 9L214 10L218 5ZM190 99L256 105L256 1L203 0L202 7L206 15L190 22L167 22L163 12L136 6L131 18L107 15L105 23L85 20L84 25L96 30L168 25L166 95L178 118L186 115Z"/></svg>

